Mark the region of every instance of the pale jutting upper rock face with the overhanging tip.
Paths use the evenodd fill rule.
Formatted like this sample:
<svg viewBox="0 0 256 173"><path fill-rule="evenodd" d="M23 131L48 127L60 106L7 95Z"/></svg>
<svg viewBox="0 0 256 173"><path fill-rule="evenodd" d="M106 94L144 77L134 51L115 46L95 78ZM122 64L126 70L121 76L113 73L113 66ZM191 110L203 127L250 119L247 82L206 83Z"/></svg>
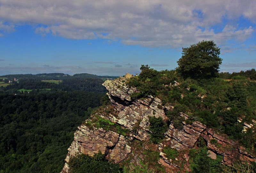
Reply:
<svg viewBox="0 0 256 173"><path fill-rule="evenodd" d="M129 88L125 84L126 81L126 77L120 77L114 81L105 81L102 85L108 90L108 97L112 105L119 111L115 122L133 131L132 137L140 141L147 140L149 138L149 117L167 119L164 107L157 97L148 96L143 100L132 100L132 93L138 92L138 90Z"/></svg>

